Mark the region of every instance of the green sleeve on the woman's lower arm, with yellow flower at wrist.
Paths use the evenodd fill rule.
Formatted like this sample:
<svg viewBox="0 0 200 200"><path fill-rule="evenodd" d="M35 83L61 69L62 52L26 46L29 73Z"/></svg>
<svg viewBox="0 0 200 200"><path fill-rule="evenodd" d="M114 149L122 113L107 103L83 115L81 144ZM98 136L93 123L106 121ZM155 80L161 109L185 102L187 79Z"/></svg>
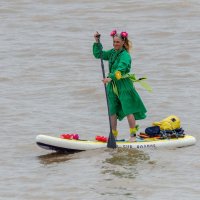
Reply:
<svg viewBox="0 0 200 200"><path fill-rule="evenodd" d="M115 72L120 71L122 76L129 73L131 69L131 56L126 52L120 56L118 66L113 73L109 74L109 78L117 81L115 77Z"/></svg>

